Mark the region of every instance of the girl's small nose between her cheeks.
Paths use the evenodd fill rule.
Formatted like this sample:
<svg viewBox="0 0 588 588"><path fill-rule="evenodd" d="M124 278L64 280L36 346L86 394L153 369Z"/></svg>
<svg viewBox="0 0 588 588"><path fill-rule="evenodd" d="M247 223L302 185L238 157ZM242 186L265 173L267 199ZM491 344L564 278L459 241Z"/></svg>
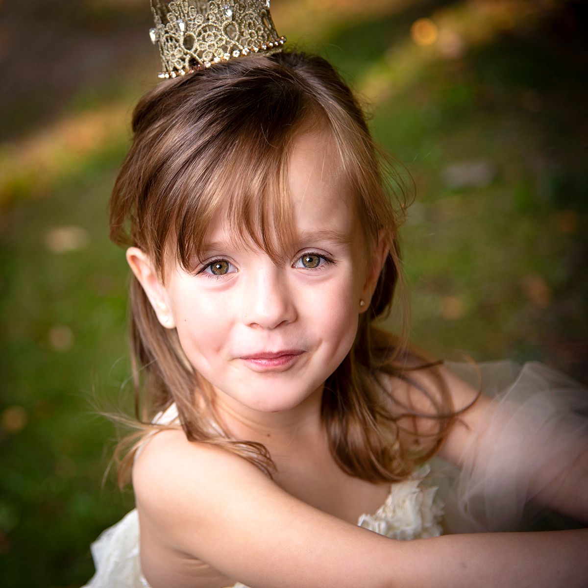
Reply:
<svg viewBox="0 0 588 588"><path fill-rule="evenodd" d="M275 329L296 320L295 293L288 284L287 271L268 260L244 280L243 319L247 325Z"/></svg>

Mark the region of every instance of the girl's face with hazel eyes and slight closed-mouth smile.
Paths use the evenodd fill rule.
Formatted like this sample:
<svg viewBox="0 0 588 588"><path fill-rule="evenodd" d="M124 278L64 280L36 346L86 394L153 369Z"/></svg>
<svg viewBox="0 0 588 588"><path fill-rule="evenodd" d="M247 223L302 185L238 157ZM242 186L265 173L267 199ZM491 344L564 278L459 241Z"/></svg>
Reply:
<svg viewBox="0 0 588 588"><path fill-rule="evenodd" d="M386 250L366 256L338 169L328 135L298 139L289 173L298 243L278 265L236 244L223 219L211 227L195 272L176 266L156 288L129 250L162 324L175 326L186 357L233 409L293 409L320 393L352 346Z"/></svg>

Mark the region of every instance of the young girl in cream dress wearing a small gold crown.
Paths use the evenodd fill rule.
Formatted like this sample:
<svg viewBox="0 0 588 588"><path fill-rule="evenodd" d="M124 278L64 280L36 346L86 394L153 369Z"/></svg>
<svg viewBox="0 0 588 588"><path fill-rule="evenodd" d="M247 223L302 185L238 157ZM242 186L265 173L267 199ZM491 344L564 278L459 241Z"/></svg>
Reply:
<svg viewBox="0 0 588 588"><path fill-rule="evenodd" d="M175 79L137 106L111 201L142 425L120 470L137 507L89 586L585 586L586 530L443 532L511 529L526 503L588 521L586 397L535 365L490 400L375 326L401 215L358 103L276 35L188 51L202 4L154 5L185 61L162 51ZM243 4L269 19L233 2L223 30ZM446 516L436 454L466 473Z"/></svg>

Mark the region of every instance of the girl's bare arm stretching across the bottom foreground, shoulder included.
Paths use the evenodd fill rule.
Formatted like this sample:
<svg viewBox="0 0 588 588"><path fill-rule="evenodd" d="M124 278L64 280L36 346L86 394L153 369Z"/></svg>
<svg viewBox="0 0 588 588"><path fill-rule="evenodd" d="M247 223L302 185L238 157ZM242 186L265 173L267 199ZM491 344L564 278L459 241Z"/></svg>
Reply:
<svg viewBox="0 0 588 588"><path fill-rule="evenodd" d="M587 531L397 542L306 505L246 460L182 432L153 437L133 483L153 588L226 585L198 579L192 558L256 588L588 583Z"/></svg>

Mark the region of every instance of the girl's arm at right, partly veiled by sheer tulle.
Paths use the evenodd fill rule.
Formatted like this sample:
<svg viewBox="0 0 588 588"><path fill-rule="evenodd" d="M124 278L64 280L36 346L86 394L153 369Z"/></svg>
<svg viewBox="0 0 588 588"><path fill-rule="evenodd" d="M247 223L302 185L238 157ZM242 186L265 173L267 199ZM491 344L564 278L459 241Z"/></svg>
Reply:
<svg viewBox="0 0 588 588"><path fill-rule="evenodd" d="M459 377L445 368L442 373L456 409L476 398L476 390ZM495 414L495 410L499 412ZM537 429L545 425L542 416L540 411L527 414L525 410L517 412L515 406L497 407L488 397L480 396L450 430L439 455L462 467L464 448L473 445L475 453L470 455L476 457L477 470L485 469L486 464L480 463L484 460L501 462L499 474L517 480L513 488L529 485L527 499L532 497L537 503L588 523L586 424L578 427L562 422L545 436L537 437ZM579 433L582 430L583 435ZM508 471L509 466L512 471Z"/></svg>

